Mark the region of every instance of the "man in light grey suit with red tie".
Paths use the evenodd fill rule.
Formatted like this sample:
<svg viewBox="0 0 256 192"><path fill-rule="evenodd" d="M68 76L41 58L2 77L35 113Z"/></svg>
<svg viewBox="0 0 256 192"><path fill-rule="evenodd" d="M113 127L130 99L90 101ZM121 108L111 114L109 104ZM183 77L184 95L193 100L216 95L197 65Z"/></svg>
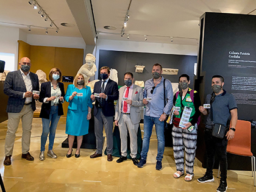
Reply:
<svg viewBox="0 0 256 192"><path fill-rule="evenodd" d="M119 98L116 104L115 124L119 127L121 138L121 157L116 160L121 163L127 159L127 129L130 135L130 157L137 166L137 133L140 124L140 108L143 106L143 89L133 84L133 74L124 74L124 85L119 89Z"/></svg>

